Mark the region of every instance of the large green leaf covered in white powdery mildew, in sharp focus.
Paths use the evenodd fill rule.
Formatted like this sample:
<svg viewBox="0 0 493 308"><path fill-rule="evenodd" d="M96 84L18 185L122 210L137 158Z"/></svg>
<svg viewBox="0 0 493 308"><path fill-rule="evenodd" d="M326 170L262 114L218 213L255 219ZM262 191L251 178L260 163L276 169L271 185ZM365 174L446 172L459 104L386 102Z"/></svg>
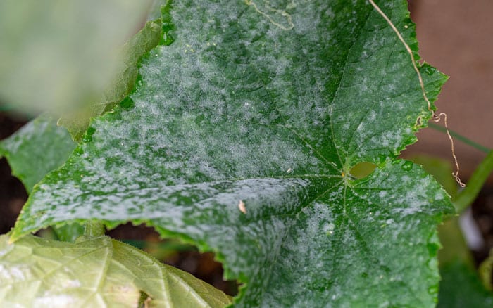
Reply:
<svg viewBox="0 0 493 308"><path fill-rule="evenodd" d="M414 52L404 1L380 1ZM128 104L95 118L12 238L101 219L211 250L242 306L437 300L447 193L397 160L430 117L406 49L366 1L177 1ZM415 55L417 58L417 55ZM446 79L420 65L428 97ZM371 162L368 177L351 167Z"/></svg>

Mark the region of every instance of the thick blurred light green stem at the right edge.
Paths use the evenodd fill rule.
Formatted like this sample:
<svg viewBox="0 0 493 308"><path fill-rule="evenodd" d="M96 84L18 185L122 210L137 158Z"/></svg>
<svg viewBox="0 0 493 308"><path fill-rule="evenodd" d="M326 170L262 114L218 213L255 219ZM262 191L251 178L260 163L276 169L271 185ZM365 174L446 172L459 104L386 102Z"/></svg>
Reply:
<svg viewBox="0 0 493 308"><path fill-rule="evenodd" d="M457 198L455 198L454 206L456 207L456 212L460 214L463 210L473 203L478 193L485 184L486 179L493 170L493 150L489 151L486 158L482 160L480 165L476 167L473 175L470 177L466 188L458 193Z"/></svg>

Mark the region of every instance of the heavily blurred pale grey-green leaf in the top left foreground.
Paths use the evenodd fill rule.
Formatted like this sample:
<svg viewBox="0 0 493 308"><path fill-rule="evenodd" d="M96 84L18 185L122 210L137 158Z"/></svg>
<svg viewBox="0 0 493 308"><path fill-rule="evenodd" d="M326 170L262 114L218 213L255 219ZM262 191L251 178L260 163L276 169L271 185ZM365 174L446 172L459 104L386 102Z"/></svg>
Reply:
<svg viewBox="0 0 493 308"><path fill-rule="evenodd" d="M70 112L101 96L116 49L151 0L0 1L0 98L18 112Z"/></svg>

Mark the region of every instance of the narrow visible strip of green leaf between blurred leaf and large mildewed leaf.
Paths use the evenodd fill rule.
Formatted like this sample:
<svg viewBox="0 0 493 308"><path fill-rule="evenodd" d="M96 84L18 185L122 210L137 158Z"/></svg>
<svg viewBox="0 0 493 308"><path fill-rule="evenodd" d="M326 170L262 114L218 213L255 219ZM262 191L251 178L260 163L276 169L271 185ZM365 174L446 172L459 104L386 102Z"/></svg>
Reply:
<svg viewBox="0 0 493 308"><path fill-rule="evenodd" d="M161 20L149 21L144 28L129 39L120 50L120 59L111 84L96 103L65 115L58 124L67 127L75 141L82 139L92 117L102 115L125 98L134 89L140 58L161 40Z"/></svg>

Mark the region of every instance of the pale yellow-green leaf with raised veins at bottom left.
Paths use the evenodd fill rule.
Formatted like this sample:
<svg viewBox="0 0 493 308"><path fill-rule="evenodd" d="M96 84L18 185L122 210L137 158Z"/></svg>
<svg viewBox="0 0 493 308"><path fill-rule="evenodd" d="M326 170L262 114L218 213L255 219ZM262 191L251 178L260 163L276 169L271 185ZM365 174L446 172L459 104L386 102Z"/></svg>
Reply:
<svg viewBox="0 0 493 308"><path fill-rule="evenodd" d="M0 236L6 307L224 307L230 298L194 276L107 236L78 243ZM187 304L184 304L187 303Z"/></svg>

